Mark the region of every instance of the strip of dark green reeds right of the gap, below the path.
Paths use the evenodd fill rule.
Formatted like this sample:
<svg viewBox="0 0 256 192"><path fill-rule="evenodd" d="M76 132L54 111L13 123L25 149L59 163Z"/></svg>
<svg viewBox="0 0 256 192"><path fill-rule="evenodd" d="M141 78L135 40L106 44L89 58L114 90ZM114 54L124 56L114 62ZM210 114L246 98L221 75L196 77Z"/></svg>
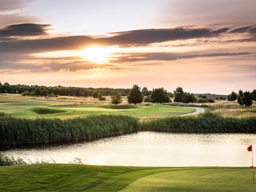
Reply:
<svg viewBox="0 0 256 192"><path fill-rule="evenodd" d="M256 118L223 118L206 112L198 116L159 118L140 123L140 131L173 133L256 133Z"/></svg>

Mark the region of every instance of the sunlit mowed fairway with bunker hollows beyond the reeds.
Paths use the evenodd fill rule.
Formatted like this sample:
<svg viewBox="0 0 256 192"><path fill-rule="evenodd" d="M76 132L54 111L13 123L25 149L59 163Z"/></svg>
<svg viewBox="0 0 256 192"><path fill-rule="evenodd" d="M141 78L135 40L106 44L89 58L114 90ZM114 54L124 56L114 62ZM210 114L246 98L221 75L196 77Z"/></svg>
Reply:
<svg viewBox="0 0 256 192"><path fill-rule="evenodd" d="M192 107L154 105L102 105L63 101L33 101L0 99L0 112L18 118L77 118L88 115L131 115L137 118L159 118L195 112Z"/></svg>

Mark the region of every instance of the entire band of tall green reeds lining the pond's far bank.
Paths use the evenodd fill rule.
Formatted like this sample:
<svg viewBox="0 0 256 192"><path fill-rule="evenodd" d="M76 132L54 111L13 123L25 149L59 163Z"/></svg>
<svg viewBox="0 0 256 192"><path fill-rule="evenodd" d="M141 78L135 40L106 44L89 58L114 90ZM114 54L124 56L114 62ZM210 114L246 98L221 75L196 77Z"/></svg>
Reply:
<svg viewBox="0 0 256 192"><path fill-rule="evenodd" d="M78 142L132 134L137 131L173 133L256 133L256 118L222 118L211 113L140 122L124 115L74 119L0 118L0 148L56 142Z"/></svg>

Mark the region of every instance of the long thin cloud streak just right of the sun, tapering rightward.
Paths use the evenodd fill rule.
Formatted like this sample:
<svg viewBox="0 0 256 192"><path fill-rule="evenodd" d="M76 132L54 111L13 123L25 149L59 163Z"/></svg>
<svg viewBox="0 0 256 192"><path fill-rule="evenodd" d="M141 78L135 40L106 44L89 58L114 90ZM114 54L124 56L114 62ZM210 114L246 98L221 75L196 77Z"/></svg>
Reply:
<svg viewBox="0 0 256 192"><path fill-rule="evenodd" d="M222 56L236 56L248 55L251 53L132 53L115 58L112 61L116 63L134 62L134 61L174 61L184 58L205 58L205 57L222 57Z"/></svg>

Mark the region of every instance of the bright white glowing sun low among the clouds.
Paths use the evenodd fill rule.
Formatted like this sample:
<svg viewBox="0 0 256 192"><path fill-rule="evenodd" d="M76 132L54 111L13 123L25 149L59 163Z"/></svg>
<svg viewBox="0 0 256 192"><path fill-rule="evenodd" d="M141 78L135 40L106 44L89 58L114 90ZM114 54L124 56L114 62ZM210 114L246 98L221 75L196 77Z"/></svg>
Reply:
<svg viewBox="0 0 256 192"><path fill-rule="evenodd" d="M112 47L86 47L81 50L80 55L95 64L108 64L112 53Z"/></svg>

